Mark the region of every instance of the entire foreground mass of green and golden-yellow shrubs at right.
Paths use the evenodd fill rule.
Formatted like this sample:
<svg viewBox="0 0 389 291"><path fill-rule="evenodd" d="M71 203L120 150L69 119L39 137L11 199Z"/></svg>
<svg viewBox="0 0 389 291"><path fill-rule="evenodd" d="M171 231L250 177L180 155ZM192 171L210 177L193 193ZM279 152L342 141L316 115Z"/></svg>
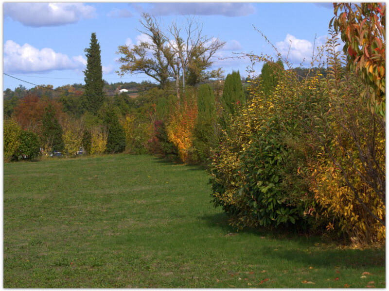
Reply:
<svg viewBox="0 0 389 291"><path fill-rule="evenodd" d="M385 123L336 46L332 32L326 78L284 70L267 95L253 80L251 104L230 116L210 173L214 204L233 225L385 241Z"/></svg>

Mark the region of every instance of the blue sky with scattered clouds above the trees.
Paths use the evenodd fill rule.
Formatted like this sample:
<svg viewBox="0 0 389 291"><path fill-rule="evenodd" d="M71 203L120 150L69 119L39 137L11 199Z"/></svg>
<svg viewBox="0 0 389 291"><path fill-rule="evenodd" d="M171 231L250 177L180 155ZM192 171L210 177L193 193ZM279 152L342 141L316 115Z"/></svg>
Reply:
<svg viewBox="0 0 389 291"><path fill-rule="evenodd" d="M221 67L227 75L239 70L247 76L247 59L231 58L239 53L276 56L261 34L288 60L298 66L305 58L309 66L313 42L324 44L328 24L334 16L332 3L295 2L4 2L3 73L34 84L54 88L83 83L92 32L101 47L103 79L108 83L149 80L143 74L118 75L119 46L144 40L139 32L143 12L156 16L164 27L194 16L203 23L203 34L219 38L226 45L213 57L212 69ZM253 27L254 26L254 27ZM291 45L290 45L291 41ZM262 64L255 64L259 74ZM3 90L20 84L35 85L3 74Z"/></svg>

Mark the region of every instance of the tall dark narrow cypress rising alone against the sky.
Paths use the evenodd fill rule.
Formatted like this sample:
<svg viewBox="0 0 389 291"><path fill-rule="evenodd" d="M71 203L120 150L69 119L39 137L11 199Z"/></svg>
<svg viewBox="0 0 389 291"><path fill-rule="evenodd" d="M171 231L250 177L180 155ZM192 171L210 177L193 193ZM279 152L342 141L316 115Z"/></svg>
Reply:
<svg viewBox="0 0 389 291"><path fill-rule="evenodd" d="M101 50L97 42L96 33L92 33L90 46L88 49L85 49L85 52L88 63L87 69L84 71L85 93L83 96L83 104L88 112L96 114L104 102Z"/></svg>

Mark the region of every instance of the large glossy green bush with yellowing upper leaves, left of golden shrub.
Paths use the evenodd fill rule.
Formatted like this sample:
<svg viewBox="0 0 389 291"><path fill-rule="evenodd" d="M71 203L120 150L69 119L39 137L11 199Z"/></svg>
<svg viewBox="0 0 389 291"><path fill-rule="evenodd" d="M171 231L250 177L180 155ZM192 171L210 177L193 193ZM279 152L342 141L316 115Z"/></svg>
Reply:
<svg viewBox="0 0 389 291"><path fill-rule="evenodd" d="M301 153L288 146L290 137L303 145L298 126L304 87L290 89L298 87L293 72L280 72L279 79L276 93L270 96L265 96L259 80L252 81L252 103L230 116L229 130L214 151L213 201L237 227L298 224L307 228L314 223L306 215L315 204L313 194L297 176ZM295 173L292 179L290 170Z"/></svg>

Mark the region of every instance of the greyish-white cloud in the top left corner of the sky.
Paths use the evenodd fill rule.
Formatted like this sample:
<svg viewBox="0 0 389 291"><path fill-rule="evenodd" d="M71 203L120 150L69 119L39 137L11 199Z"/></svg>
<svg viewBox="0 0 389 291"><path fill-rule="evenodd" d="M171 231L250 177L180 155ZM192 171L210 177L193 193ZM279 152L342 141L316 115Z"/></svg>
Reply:
<svg viewBox="0 0 389 291"><path fill-rule="evenodd" d="M96 16L96 8L84 3L4 3L4 19L25 26L59 26Z"/></svg>

